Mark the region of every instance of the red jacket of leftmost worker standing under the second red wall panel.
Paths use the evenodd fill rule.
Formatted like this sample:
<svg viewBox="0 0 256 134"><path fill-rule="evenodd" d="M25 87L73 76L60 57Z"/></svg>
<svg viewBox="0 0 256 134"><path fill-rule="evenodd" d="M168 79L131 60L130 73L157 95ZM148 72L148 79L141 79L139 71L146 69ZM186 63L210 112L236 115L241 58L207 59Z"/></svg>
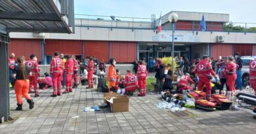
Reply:
<svg viewBox="0 0 256 134"><path fill-rule="evenodd" d="M63 73L63 62L58 56L54 57L51 61L51 74L53 73Z"/></svg>

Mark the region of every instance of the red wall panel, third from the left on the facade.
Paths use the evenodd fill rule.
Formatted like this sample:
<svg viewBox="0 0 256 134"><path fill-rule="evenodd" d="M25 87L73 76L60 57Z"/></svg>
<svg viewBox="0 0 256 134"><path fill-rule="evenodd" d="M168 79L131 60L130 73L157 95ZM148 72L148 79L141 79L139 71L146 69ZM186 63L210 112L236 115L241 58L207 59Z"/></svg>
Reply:
<svg viewBox="0 0 256 134"><path fill-rule="evenodd" d="M100 62L104 59L105 63L109 60L108 41L85 41L85 57L95 56Z"/></svg>

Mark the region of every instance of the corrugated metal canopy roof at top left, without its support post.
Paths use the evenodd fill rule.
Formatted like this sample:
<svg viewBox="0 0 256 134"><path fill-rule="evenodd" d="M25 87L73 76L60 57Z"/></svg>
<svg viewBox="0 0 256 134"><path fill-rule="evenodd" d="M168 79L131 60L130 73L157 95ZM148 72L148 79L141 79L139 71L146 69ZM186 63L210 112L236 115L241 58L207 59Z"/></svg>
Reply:
<svg viewBox="0 0 256 134"><path fill-rule="evenodd" d="M74 33L74 0L1 0L1 27L7 33Z"/></svg>

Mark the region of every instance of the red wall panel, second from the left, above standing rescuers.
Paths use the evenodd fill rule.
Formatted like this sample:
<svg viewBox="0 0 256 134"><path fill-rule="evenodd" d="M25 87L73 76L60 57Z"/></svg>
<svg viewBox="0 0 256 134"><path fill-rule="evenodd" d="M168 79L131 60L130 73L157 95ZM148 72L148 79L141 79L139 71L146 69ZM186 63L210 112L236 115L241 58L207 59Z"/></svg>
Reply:
<svg viewBox="0 0 256 134"><path fill-rule="evenodd" d="M75 40L45 40L45 55L53 56L58 51L62 54L82 55L83 42Z"/></svg>

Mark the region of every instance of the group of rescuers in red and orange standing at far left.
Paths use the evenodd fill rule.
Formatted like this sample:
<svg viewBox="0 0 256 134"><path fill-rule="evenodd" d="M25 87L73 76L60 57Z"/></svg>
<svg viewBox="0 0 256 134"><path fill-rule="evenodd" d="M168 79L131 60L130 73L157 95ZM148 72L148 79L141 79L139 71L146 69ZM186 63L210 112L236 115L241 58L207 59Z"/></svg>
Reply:
<svg viewBox="0 0 256 134"><path fill-rule="evenodd" d="M51 60L50 75L45 73L44 78L39 78L39 67L35 54L30 55L29 60L25 60L24 56L20 56L15 61L15 54L11 54L9 57L9 81L10 87L14 86L16 93L17 105L16 110L22 110L22 95L27 99L30 104L30 109L33 109L33 99L29 93L35 93L34 97L39 96L38 84L42 89L50 88L53 86L53 94L51 97L56 97L62 93L72 92L72 88L76 88L79 84L78 80L78 61L75 56L60 54L54 52L54 58ZM87 79L89 86L87 88L93 88L93 73L95 70L95 58L87 57L89 62L87 65ZM72 84L74 79L74 85ZM62 92L62 83L66 85L66 90ZM32 87L34 91L32 91Z"/></svg>

